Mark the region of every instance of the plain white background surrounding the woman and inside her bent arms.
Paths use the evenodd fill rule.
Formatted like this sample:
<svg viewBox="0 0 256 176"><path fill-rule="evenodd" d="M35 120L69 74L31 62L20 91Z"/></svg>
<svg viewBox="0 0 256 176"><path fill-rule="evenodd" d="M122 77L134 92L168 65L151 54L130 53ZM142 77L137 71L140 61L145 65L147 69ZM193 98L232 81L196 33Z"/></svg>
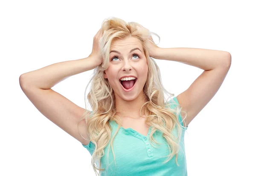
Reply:
<svg viewBox="0 0 256 176"><path fill-rule="evenodd" d="M0 175L94 176L90 153L35 108L21 90L19 77L88 57L107 17L142 24L161 37L162 48L230 52L232 64L221 88L189 124L187 171L189 176L255 174L253 1L6 0L0 2ZM203 72L180 62L156 62L165 88L175 96ZM52 89L84 108L92 73L74 75Z"/></svg>

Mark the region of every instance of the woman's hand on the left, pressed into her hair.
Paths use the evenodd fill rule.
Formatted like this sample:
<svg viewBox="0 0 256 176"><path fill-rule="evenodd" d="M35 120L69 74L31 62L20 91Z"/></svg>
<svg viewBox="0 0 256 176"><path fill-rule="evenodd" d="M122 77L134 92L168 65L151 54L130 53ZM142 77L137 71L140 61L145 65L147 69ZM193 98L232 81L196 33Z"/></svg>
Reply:
<svg viewBox="0 0 256 176"><path fill-rule="evenodd" d="M95 58L96 62L99 63L99 65L102 63L103 58L100 52L100 48L99 48L99 40L101 39L103 35L102 32L102 28L99 29L99 31L97 32L97 34L93 37L93 50L91 52L91 54L89 55L89 57L93 57Z"/></svg>

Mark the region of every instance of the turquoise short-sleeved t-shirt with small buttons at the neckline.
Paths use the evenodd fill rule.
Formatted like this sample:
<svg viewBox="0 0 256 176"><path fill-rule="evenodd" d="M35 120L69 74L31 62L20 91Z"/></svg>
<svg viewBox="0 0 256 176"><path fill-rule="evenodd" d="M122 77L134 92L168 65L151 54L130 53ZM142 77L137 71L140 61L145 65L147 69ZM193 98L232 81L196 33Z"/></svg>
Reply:
<svg viewBox="0 0 256 176"><path fill-rule="evenodd" d="M178 104L177 98L173 98ZM174 102L172 102L174 103ZM171 105L170 108L175 108L176 105ZM181 116L178 116L180 124L182 123ZM116 132L118 125L115 121L110 121L112 127L111 139ZM188 127L185 127L187 129ZM163 164L166 161L167 155L169 155L169 148L165 139L162 136L162 132L156 131L153 136L161 145L154 144L157 148L154 148L149 142L149 134L151 127L149 128L147 136L144 136L132 128L120 128L113 140L113 150L116 159L116 166L113 158L110 143L104 149L105 155L101 159L101 168L105 168L101 172L101 176L187 176L186 168L186 155L184 147L184 133L182 130L182 136L180 139L180 151L178 153L178 164L176 164L176 155L172 159ZM177 131L173 132L177 135ZM83 144L82 144L83 145ZM95 145L90 141L88 145L83 145L90 154L93 154ZM109 159L107 158L108 148ZM108 161L107 161L108 159ZM99 165L97 165L99 167ZM106 168L108 166L108 168Z"/></svg>

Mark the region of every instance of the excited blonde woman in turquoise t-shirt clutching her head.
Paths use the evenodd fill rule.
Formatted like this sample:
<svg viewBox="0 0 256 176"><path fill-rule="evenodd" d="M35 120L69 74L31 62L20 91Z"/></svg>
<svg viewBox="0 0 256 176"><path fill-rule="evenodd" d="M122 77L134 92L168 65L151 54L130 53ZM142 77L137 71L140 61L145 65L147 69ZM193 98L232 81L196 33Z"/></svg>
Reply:
<svg viewBox="0 0 256 176"><path fill-rule="evenodd" d="M227 51L159 48L151 34L138 23L107 18L93 39L89 57L20 76L20 86L35 107L90 152L96 175L186 176L184 133L229 71ZM174 97L163 87L152 58L182 62L204 72ZM91 69L87 99L92 111L51 89Z"/></svg>

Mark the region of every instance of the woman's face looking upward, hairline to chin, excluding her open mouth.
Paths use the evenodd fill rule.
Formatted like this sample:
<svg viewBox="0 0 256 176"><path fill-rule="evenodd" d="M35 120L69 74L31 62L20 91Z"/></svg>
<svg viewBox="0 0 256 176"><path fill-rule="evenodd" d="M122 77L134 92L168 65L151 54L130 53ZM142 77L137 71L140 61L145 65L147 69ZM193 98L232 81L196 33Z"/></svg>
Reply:
<svg viewBox="0 0 256 176"><path fill-rule="evenodd" d="M133 50L134 48L139 49ZM144 94L143 87L147 80L148 63L140 40L128 37L125 40L114 41L110 47L109 60L109 67L104 71L104 78L108 79L116 98L120 97L129 101ZM129 75L136 77L137 80L131 91L125 91L119 79Z"/></svg>

